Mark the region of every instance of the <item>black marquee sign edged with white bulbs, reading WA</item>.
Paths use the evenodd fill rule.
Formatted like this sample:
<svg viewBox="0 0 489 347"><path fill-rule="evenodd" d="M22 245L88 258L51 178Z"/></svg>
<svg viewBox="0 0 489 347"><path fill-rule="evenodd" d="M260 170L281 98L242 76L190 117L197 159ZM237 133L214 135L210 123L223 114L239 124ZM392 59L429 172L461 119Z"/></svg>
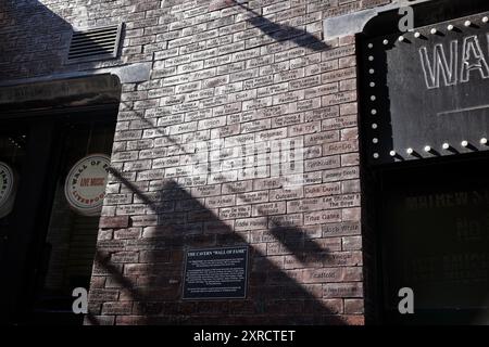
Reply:
<svg viewBox="0 0 489 347"><path fill-rule="evenodd" d="M489 150L488 22L480 14L362 44L371 164Z"/></svg>

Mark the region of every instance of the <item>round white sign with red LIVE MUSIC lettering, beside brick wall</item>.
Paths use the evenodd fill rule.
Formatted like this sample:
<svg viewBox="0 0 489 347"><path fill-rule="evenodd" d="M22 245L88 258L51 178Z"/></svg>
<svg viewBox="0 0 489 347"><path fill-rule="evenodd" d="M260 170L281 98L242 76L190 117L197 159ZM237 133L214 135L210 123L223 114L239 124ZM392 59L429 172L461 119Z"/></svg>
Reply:
<svg viewBox="0 0 489 347"><path fill-rule="evenodd" d="M102 210L111 159L91 154L76 163L64 183L70 206L83 216L97 216Z"/></svg>

